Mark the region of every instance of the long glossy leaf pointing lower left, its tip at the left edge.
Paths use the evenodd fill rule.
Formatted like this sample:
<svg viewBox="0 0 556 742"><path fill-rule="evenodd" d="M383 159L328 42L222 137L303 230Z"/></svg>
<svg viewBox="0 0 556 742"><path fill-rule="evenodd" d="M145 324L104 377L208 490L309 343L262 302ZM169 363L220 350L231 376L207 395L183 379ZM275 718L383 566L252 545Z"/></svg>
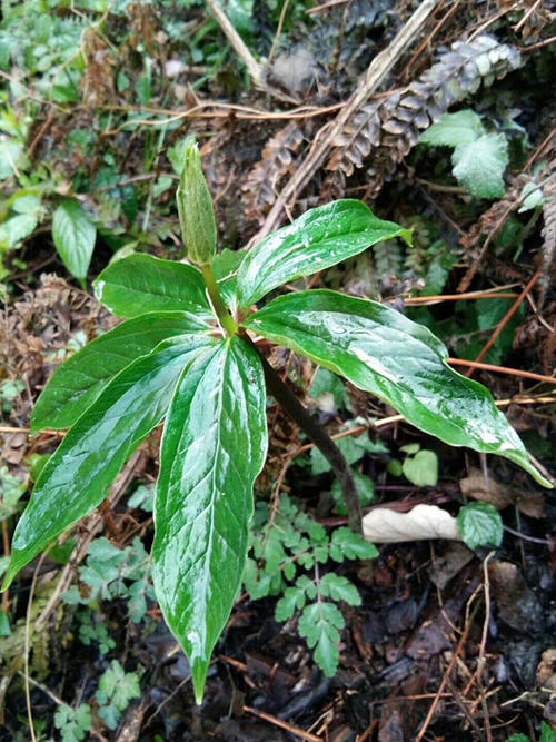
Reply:
<svg viewBox="0 0 556 742"><path fill-rule="evenodd" d="M16 574L100 505L131 453L165 416L187 360L210 340L165 340L125 368L78 419L50 457L18 523L8 587Z"/></svg>

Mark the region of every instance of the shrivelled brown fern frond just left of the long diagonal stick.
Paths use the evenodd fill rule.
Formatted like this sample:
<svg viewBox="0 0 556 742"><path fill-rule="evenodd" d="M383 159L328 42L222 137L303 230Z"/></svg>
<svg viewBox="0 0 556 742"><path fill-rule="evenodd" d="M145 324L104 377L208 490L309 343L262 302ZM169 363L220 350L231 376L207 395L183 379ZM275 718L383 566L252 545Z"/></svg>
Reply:
<svg viewBox="0 0 556 742"><path fill-rule="evenodd" d="M294 170L295 155L302 139L304 132L298 123L290 121L265 145L260 161L251 169L242 187L248 221L264 222L265 215L276 201L278 184Z"/></svg>

